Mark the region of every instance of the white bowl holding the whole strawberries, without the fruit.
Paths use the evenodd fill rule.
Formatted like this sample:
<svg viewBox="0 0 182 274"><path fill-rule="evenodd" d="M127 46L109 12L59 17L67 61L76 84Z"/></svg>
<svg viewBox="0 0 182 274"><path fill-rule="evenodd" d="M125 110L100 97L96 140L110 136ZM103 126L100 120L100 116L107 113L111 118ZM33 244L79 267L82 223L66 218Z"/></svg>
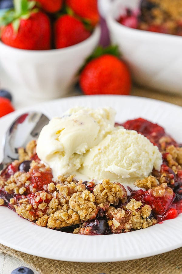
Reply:
<svg viewBox="0 0 182 274"><path fill-rule="evenodd" d="M57 98L68 93L76 73L98 44L100 28L83 42L47 51L9 47L0 42L0 63L10 77L34 97Z"/></svg>

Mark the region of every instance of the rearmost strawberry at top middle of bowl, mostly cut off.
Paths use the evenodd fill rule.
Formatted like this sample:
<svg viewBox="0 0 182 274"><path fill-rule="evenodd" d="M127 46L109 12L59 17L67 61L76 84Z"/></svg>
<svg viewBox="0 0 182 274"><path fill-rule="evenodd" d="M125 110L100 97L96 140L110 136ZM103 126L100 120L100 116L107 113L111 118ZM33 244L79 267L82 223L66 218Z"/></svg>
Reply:
<svg viewBox="0 0 182 274"><path fill-rule="evenodd" d="M43 10L46 12L58 12L62 8L63 0L37 0Z"/></svg>

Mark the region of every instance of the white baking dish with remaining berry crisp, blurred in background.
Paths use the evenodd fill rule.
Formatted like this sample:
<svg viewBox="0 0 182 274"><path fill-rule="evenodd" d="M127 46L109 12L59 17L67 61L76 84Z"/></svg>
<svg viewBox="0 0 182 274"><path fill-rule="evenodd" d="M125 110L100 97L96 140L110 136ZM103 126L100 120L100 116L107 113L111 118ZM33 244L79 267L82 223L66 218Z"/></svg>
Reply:
<svg viewBox="0 0 182 274"><path fill-rule="evenodd" d="M136 83L181 94L182 18L178 5L176 0L116 0L107 24Z"/></svg>

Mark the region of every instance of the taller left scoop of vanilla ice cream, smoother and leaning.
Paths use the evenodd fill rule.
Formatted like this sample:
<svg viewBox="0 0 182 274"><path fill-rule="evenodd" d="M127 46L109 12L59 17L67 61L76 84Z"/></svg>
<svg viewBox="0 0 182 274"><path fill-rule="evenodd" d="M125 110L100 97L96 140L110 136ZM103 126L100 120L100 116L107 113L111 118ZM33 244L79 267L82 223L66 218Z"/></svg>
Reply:
<svg viewBox="0 0 182 274"><path fill-rule="evenodd" d="M114 129L115 111L110 108L75 107L61 118L53 118L38 138L37 155L54 177L74 174L83 155Z"/></svg>

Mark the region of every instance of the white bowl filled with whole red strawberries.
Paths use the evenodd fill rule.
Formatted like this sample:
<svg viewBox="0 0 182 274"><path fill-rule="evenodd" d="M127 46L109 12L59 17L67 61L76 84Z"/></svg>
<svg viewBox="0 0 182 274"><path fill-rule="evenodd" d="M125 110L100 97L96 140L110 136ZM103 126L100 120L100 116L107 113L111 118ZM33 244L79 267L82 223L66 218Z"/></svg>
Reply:
<svg viewBox="0 0 182 274"><path fill-rule="evenodd" d="M90 2L90 3L89 3ZM100 37L97 1L14 0L0 17L0 62L35 97L68 93Z"/></svg>

